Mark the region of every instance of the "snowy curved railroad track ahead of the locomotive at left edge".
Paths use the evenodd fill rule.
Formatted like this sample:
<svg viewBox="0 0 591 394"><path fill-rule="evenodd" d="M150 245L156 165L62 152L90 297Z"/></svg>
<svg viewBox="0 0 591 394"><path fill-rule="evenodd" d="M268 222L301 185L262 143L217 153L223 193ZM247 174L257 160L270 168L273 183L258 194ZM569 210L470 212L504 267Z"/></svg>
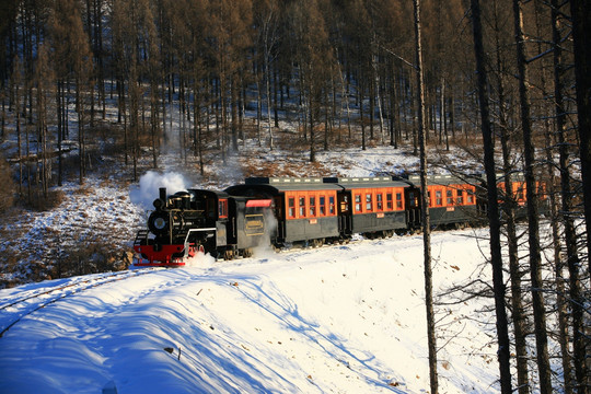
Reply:
<svg viewBox="0 0 591 394"><path fill-rule="evenodd" d="M49 305L53 304L59 300L63 300L65 298L78 294L82 291L96 288L103 285L112 283L117 280L123 280L127 278L137 277L140 275L150 274L154 270L154 268L142 268L137 269L132 271L118 271L118 273L112 273L107 275L103 275L95 278L88 278L82 279L76 282L70 282L67 285L58 286L51 289L47 290L39 290L20 298L16 298L14 300L9 300L5 303L0 304L0 313L2 311L8 311L10 308L16 309L16 311L11 312L11 314L14 314L15 317L9 320L11 321L10 324L7 324L5 326L2 324L0 326L0 338L7 333L11 327L13 327L16 323L19 323L23 317ZM42 298L47 297L46 300L43 300L40 302L34 302L35 300L42 300ZM21 306L22 305L22 306Z"/></svg>

